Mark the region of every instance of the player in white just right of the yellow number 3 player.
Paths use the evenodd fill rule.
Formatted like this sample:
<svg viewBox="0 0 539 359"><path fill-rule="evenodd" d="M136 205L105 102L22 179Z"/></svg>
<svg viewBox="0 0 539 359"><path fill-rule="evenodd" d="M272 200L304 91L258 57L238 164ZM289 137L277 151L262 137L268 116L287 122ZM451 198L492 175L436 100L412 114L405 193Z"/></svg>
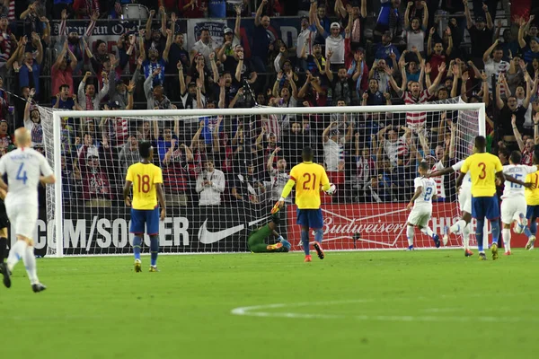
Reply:
<svg viewBox="0 0 539 359"><path fill-rule="evenodd" d="M519 184L508 181L511 177L515 180L525 180L528 173L537 171L537 166L526 166L520 164L522 154L518 151L513 151L509 157L509 163L503 166L503 173L506 175L504 182L503 195L501 196L501 222L503 230L501 238L505 248L505 255L511 254L511 223L515 223L514 231L522 233L526 229L526 197L524 196L525 188L532 184ZM511 180L511 179L509 179Z"/></svg>

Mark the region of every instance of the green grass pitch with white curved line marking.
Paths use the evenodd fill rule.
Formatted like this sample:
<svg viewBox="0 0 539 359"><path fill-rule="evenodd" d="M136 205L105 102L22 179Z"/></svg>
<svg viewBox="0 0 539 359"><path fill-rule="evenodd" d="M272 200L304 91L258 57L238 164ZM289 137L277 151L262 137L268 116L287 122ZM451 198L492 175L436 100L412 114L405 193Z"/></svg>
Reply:
<svg viewBox="0 0 539 359"><path fill-rule="evenodd" d="M38 260L0 288L5 358L531 358L537 251ZM255 308L245 308L258 306ZM235 309L235 311L234 311ZM234 313L233 313L234 311ZM241 315L238 315L241 314Z"/></svg>

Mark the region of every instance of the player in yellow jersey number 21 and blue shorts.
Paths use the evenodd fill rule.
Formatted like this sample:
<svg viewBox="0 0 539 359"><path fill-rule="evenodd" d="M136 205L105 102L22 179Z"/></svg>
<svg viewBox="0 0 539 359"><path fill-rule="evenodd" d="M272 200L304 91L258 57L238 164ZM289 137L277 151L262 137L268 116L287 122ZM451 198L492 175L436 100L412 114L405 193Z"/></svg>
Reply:
<svg viewBox="0 0 539 359"><path fill-rule="evenodd" d="M292 188L296 185L297 224L301 225L301 242L305 251L305 262L312 260L309 254L309 228L314 230L314 250L318 258L323 259L323 218L320 209L320 186L328 194L335 193L335 185L330 183L323 166L313 163L314 152L311 147L305 147L301 153L304 162L294 166L290 171L290 180L283 188L276 207L285 204Z"/></svg>

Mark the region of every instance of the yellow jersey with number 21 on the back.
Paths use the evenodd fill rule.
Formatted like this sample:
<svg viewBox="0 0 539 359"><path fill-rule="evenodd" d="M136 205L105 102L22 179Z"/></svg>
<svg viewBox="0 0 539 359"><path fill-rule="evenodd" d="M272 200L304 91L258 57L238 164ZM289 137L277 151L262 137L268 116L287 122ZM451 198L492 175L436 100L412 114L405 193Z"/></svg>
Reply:
<svg viewBox="0 0 539 359"><path fill-rule="evenodd" d="M320 187L329 188L330 180L320 164L303 162L290 171L296 183L296 205L299 209L320 208Z"/></svg>

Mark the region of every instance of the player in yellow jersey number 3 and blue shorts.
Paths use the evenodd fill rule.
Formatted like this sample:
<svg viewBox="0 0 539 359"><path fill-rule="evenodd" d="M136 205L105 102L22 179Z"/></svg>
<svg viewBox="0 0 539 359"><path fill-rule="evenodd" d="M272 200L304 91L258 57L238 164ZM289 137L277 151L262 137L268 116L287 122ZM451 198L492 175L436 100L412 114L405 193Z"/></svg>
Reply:
<svg viewBox="0 0 539 359"><path fill-rule="evenodd" d="M483 136L475 137L473 153L466 158L461 173L456 180L456 187L459 188L464 180L464 176L470 171L472 179L472 216L477 220L475 226L475 239L477 240L477 250L479 259L486 260L483 250L483 228L485 218L490 221L492 232L492 259L498 259L498 238L499 238L499 203L496 196L496 178L501 183L505 181L503 166L499 158L494 154L486 153L487 141Z"/></svg>

